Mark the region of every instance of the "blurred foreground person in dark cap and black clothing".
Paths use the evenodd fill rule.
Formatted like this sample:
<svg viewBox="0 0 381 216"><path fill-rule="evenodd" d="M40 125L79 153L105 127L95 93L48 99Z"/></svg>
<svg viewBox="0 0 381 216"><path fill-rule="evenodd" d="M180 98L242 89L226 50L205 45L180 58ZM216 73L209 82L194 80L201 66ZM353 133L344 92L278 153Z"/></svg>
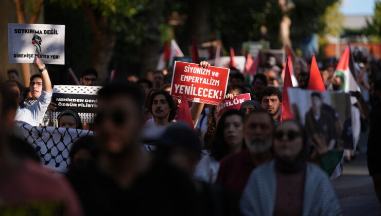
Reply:
<svg viewBox="0 0 381 216"><path fill-rule="evenodd" d="M155 200L150 208L141 208L142 214L164 215L164 212L161 211L165 211L165 215L171 214L171 212L190 215L239 214L238 202L232 199L231 193L226 189L193 178L200 152L200 140L188 124L176 122L166 129L159 139L153 163L161 164L166 168L165 173L168 174L160 176L159 179L147 178L148 182L141 184L146 191L146 195L140 191L141 203L143 205L146 203L147 196ZM173 174L169 173L171 169L182 171L185 174L183 177L187 177L192 185L179 185L178 178L172 177ZM173 199L178 203L170 209L164 209L163 206L167 206L169 201L165 198L166 196L163 197L163 194L168 196L168 192L174 193L174 191L162 185L171 184L176 185L185 193L181 193L180 197L174 195ZM187 202L183 202L184 200ZM159 212L158 209L160 209Z"/></svg>

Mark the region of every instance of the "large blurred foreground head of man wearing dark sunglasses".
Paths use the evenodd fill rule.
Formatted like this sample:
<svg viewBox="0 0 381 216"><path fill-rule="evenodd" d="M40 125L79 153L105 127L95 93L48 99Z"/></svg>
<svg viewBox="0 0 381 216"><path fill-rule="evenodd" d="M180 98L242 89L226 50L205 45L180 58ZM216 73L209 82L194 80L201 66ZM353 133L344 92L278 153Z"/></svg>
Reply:
<svg viewBox="0 0 381 216"><path fill-rule="evenodd" d="M137 86L112 83L98 91L96 134L101 153L123 156L138 146L143 99Z"/></svg>

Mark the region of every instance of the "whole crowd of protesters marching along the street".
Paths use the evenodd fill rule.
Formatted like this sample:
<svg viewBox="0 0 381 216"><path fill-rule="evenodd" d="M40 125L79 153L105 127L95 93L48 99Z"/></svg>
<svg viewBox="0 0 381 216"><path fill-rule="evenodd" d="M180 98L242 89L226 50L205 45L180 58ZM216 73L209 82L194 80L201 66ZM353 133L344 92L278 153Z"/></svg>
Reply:
<svg viewBox="0 0 381 216"><path fill-rule="evenodd" d="M361 118L370 123L368 166L381 201L381 149L377 143L381 138L377 131L381 121L377 73L381 71L370 69L367 59L357 58L357 80L364 90L357 97L372 112L364 111L364 104L357 107ZM320 168L330 143L324 134L311 134L295 120L280 120L282 71L259 71L251 84L245 84L244 76L231 68L226 99L250 93L252 100L220 118L215 105L193 102L191 128L175 120L180 104L187 101L172 99L169 93L171 68L165 75L160 70L149 71L146 79L130 76L126 82L103 86L97 94L94 124L86 124L73 109L62 111L57 122L50 121L57 104L51 102L49 75L39 58L33 65L40 74L30 78L29 87L17 81L16 70L9 70L9 80L1 88L0 212L341 214L330 179ZM210 64L203 61L199 66ZM308 86L308 71L308 65L295 66L300 88ZM339 91L343 80L333 73L334 65L321 68L326 88ZM82 71L81 85L98 83L95 69ZM318 94L313 97L321 100ZM311 121L315 121L313 111L316 108L311 108ZM67 173L52 173L40 164L36 150L13 130L14 123L93 130L95 136L81 137L72 145ZM354 153L349 152L346 159Z"/></svg>

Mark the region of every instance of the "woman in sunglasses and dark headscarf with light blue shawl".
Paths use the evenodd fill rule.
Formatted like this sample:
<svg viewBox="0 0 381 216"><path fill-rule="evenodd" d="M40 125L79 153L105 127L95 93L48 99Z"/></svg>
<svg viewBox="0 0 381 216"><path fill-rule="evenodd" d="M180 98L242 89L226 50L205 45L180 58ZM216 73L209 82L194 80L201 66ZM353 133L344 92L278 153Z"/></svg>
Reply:
<svg viewBox="0 0 381 216"><path fill-rule="evenodd" d="M241 197L244 215L340 215L328 176L308 162L307 134L287 120L274 132L274 160L255 169Z"/></svg>

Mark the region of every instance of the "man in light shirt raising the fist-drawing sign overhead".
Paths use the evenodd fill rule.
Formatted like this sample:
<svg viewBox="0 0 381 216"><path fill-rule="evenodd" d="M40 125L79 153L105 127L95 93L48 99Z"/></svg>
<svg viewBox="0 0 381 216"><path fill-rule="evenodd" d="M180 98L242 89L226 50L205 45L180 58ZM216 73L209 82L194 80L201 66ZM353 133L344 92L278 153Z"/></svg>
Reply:
<svg viewBox="0 0 381 216"><path fill-rule="evenodd" d="M43 118L47 106L50 103L52 87L45 64L42 63L38 57L35 57L33 65L40 71L40 77L32 77L33 79L30 81L30 92L32 94L32 99L36 99L36 102L30 106L18 107L14 120L16 122L38 126L39 121ZM15 98L15 102L19 103L21 100L21 89L16 86L11 88L18 97Z"/></svg>

